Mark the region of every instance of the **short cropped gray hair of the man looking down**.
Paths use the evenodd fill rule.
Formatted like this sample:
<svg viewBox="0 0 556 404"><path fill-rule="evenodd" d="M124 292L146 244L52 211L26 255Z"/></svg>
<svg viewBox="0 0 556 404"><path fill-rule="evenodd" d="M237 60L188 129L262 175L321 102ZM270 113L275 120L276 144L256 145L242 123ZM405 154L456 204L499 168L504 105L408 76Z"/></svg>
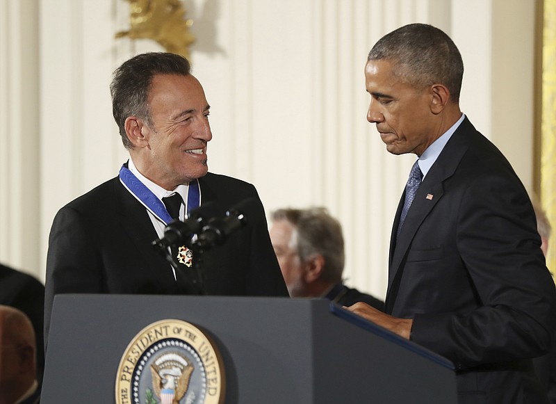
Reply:
<svg viewBox="0 0 556 404"><path fill-rule="evenodd" d="M391 61L395 76L415 88L442 84L451 101L459 102L464 62L450 37L434 26L409 24L384 35L368 60Z"/></svg>

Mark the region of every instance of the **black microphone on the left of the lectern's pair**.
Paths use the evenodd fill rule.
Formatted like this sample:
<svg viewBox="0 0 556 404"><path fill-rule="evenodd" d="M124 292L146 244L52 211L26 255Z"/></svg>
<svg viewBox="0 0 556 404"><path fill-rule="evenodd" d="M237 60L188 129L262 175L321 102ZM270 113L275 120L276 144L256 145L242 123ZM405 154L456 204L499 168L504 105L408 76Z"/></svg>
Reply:
<svg viewBox="0 0 556 404"><path fill-rule="evenodd" d="M214 202L206 202L190 211L189 218L183 222L175 219L168 223L164 229L164 236L151 244L157 252L165 253L168 247L189 243L191 236L203 228L205 218L215 218L218 212Z"/></svg>

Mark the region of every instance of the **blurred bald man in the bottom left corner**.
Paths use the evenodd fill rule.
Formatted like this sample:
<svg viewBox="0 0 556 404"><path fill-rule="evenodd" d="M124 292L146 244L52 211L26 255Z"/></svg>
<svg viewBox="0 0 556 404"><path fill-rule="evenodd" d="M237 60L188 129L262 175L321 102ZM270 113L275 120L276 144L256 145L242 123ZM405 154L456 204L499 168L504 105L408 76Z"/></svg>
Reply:
<svg viewBox="0 0 556 404"><path fill-rule="evenodd" d="M0 404L37 404L35 332L21 310L0 305Z"/></svg>

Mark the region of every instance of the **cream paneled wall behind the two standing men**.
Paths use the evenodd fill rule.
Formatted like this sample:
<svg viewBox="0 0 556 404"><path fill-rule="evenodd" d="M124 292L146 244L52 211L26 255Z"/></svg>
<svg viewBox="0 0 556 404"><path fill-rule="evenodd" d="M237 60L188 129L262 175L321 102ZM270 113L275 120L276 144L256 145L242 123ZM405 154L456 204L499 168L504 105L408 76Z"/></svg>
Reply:
<svg viewBox="0 0 556 404"><path fill-rule="evenodd" d="M348 284L384 296L391 223L414 160L389 155L366 122L363 67L384 33L428 22L452 35L466 65L463 111L532 186L534 1L184 4L211 104L211 171L251 181L267 211L327 206L344 226ZM111 72L162 50L114 39L128 10L124 0L0 0L0 261L40 278L56 211L126 158Z"/></svg>

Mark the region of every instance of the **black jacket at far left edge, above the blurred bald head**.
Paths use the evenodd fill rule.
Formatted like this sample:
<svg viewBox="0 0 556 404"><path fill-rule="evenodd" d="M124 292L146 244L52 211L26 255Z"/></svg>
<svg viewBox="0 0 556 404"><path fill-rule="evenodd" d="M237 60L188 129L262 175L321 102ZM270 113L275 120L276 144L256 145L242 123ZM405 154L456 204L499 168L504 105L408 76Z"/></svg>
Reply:
<svg viewBox="0 0 556 404"><path fill-rule="evenodd" d="M15 307L31 320L37 344L37 379L41 381L44 371L44 285L31 275L0 264L0 305Z"/></svg>

